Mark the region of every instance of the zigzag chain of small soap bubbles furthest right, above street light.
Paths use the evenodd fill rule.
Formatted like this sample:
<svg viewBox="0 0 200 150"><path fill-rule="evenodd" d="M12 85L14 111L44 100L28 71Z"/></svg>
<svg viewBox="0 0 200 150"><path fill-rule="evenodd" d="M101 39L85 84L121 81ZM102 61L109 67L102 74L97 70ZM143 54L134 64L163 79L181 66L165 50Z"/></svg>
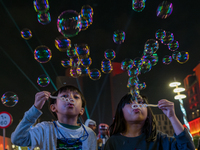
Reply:
<svg viewBox="0 0 200 150"><path fill-rule="evenodd" d="M155 33L155 37L162 44L167 45L169 51L172 55L165 55L162 59L163 64L169 65L172 60L176 60L178 63L183 64L189 60L189 53L185 51L177 51L179 48L179 42L174 40L173 33L165 31L163 29L158 29Z"/></svg>

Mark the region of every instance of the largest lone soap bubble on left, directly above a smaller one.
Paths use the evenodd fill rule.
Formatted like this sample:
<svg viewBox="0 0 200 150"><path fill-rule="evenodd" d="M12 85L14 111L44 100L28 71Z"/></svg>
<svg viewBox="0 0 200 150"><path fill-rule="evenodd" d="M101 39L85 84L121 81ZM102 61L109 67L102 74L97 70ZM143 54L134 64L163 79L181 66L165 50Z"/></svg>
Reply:
<svg viewBox="0 0 200 150"><path fill-rule="evenodd" d="M34 58L39 63L47 63L48 61L51 60L51 57L52 57L51 50L47 46L41 45L36 47L34 51Z"/></svg>

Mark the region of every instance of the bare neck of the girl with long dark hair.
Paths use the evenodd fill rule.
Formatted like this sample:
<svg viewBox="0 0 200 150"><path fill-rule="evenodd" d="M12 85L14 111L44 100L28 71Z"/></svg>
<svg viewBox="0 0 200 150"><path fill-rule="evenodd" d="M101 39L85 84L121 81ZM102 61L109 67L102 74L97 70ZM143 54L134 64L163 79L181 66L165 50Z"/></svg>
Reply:
<svg viewBox="0 0 200 150"><path fill-rule="evenodd" d="M128 124L126 125L126 131L121 133L126 137L137 137L142 134L142 126L141 124Z"/></svg>

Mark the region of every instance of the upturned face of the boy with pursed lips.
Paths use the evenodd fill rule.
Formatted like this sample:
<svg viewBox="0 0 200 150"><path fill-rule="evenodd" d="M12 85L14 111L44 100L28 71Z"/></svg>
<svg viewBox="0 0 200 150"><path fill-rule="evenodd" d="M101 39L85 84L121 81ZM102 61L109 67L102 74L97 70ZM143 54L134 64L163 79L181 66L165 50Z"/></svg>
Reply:
<svg viewBox="0 0 200 150"><path fill-rule="evenodd" d="M51 109L53 112L56 112L58 119L59 117L76 117L79 114L83 115L84 108L82 108L81 95L77 91L66 90L61 93L58 93L57 97L65 97L68 99L73 99L74 103L69 103L57 98L56 103L52 104L54 109Z"/></svg>

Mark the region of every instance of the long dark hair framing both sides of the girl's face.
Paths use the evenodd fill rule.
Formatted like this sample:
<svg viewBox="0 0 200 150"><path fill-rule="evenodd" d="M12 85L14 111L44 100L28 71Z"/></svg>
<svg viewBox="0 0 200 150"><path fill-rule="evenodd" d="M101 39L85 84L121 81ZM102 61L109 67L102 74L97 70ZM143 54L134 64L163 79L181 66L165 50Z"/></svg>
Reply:
<svg viewBox="0 0 200 150"><path fill-rule="evenodd" d="M113 123L110 126L110 136L122 133L126 130L126 120L124 118L122 108L125 106L125 104L129 103L131 99L132 95L128 93L124 97L122 97L122 99L118 103ZM145 101L145 103L148 104L148 99L146 96L142 96L142 99ZM145 120L142 132L146 134L147 142L156 140L157 137L156 120L150 107L147 107L147 119Z"/></svg>

